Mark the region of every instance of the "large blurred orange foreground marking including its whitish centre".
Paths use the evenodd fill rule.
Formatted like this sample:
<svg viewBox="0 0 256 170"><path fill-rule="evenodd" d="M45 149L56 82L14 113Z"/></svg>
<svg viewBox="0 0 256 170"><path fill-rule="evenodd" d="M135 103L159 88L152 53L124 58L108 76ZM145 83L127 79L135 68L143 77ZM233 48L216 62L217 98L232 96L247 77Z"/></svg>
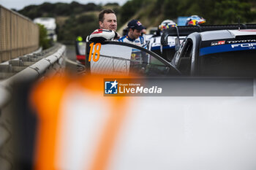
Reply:
<svg viewBox="0 0 256 170"><path fill-rule="evenodd" d="M85 76L78 79L68 76L52 77L35 86L31 93L31 103L37 109L39 125L34 169L64 169L66 168L65 162L70 161L67 157L72 156L79 157L79 160L86 159L84 160L86 163L84 161L70 161L72 162L70 163L72 164L71 169L106 169L116 136L118 136L118 130L127 113L128 98L103 96L104 78L100 75L97 77ZM83 102L78 97L78 101L72 101L74 99L72 94L76 93L80 93L88 100ZM83 109L72 108L73 110L69 112L70 108L68 109L69 104L67 102L77 104L80 107L83 105ZM100 109L100 114L97 107ZM74 127L76 124L79 125L80 121L90 124L89 119L80 120L76 117L76 115L84 117L83 114L99 115L99 120L94 122L94 129L83 128L81 131L72 128L72 125ZM72 124L72 120L75 124ZM97 123L99 124L97 125ZM81 126L84 127L84 125ZM71 129L75 129L75 131ZM70 137L75 136L76 131L80 133L80 136ZM86 136L86 131L89 131L90 135L83 139L83 135ZM79 144L74 143L79 142L72 140L92 140L94 142L91 142L91 146L83 146L87 144L83 144L83 142L78 146ZM72 147L79 147L80 155L69 155L68 150L72 150ZM91 154L89 154L89 150L91 150ZM87 158L86 156L80 158L85 153L87 153Z"/></svg>

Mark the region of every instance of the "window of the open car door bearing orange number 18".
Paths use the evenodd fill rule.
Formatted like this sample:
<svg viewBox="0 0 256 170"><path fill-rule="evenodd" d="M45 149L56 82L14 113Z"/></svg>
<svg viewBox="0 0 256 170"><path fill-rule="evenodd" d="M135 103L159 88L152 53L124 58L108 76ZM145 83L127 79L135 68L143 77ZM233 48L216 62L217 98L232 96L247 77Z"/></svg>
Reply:
<svg viewBox="0 0 256 170"><path fill-rule="evenodd" d="M86 53L89 53L88 51ZM97 52L93 47L91 58L97 58L97 53L93 57L95 51ZM90 71L93 74L139 74L143 76L178 74L178 71L163 58L136 45L108 42L106 45L101 45L98 51L99 60L90 62Z"/></svg>

